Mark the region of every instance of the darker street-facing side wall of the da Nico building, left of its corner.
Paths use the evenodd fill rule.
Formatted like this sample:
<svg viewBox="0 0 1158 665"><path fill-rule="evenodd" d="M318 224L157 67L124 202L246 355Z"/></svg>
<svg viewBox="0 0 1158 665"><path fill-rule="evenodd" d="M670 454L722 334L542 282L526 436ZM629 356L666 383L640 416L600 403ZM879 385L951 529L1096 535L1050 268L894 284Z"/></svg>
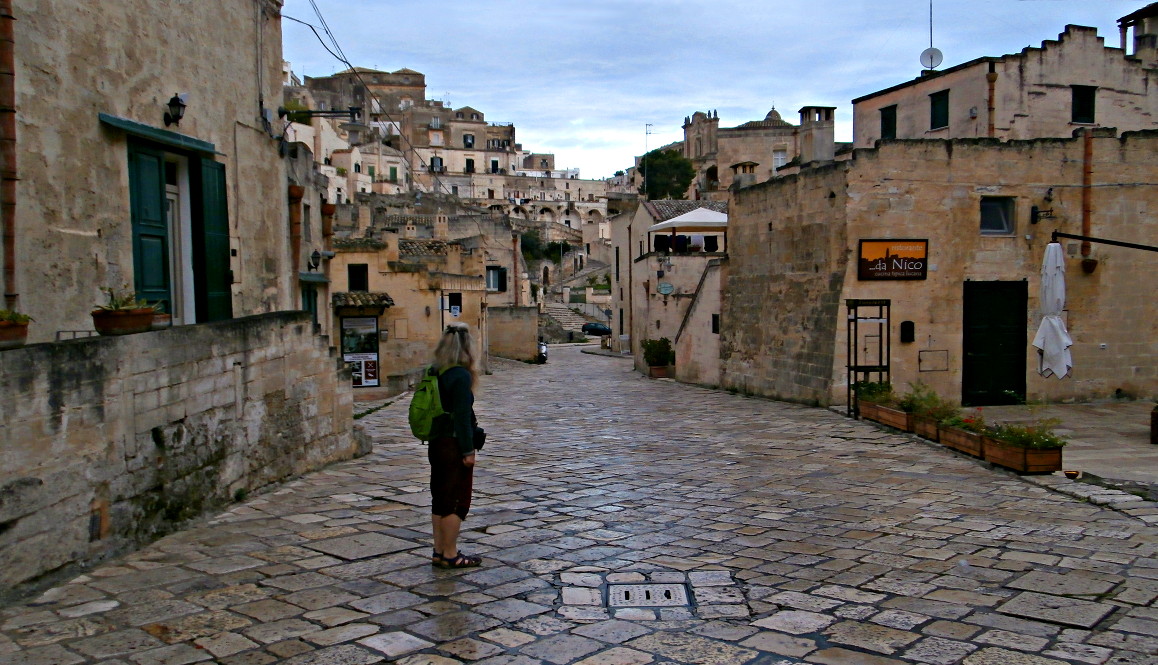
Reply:
<svg viewBox="0 0 1158 665"><path fill-rule="evenodd" d="M721 277L720 385L826 403L844 280L844 165L735 192Z"/></svg>

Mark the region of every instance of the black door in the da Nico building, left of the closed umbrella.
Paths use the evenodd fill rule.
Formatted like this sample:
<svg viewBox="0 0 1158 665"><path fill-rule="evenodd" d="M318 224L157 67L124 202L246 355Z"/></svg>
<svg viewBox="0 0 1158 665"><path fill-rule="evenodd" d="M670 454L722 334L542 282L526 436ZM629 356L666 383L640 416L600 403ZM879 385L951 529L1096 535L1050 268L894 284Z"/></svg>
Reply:
<svg viewBox="0 0 1158 665"><path fill-rule="evenodd" d="M1026 282L966 282L961 404L1025 401Z"/></svg>

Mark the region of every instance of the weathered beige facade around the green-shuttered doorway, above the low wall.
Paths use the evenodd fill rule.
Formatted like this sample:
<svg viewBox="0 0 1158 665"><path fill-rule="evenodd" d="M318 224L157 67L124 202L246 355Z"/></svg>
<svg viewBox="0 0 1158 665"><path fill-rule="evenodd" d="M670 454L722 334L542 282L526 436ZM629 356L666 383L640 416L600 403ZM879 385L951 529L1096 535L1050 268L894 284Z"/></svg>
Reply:
<svg viewBox="0 0 1158 665"><path fill-rule="evenodd" d="M2 286L36 319L30 342L51 341L58 330L93 330L89 310L104 301L100 287L139 282L130 141L161 149L175 165L178 228L198 219L199 202L190 196L197 174L185 174L189 165L223 168L228 246L221 271L229 275L220 279L233 314L296 308L292 276L305 265L290 263L286 170L261 105L280 98L280 6L15 3L17 264L14 283ZM188 107L179 124L166 125L174 93L188 93ZM173 282L186 291L171 312L174 323L205 320L193 306L204 290L189 276L199 264L188 244L188 254L174 254Z"/></svg>

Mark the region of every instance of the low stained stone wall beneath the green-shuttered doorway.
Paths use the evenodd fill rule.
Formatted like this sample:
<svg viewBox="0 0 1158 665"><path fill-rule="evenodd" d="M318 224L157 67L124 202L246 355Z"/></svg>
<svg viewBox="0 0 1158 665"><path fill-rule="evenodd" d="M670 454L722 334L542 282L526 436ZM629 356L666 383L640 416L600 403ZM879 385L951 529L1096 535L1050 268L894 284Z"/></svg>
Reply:
<svg viewBox="0 0 1158 665"><path fill-rule="evenodd" d="M0 351L0 597L369 452L338 366L306 313Z"/></svg>

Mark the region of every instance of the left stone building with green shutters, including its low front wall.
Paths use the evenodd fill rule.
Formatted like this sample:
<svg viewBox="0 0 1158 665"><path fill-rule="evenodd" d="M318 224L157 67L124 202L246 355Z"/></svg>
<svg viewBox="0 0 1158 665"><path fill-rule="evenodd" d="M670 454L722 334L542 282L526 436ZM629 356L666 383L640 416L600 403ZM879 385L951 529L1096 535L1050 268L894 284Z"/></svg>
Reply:
<svg viewBox="0 0 1158 665"><path fill-rule="evenodd" d="M299 312L324 212L263 104L281 89L280 8L0 8L0 286L35 319L0 351L0 589L366 451ZM291 200L314 207L293 218ZM123 286L171 328L88 337L101 287Z"/></svg>

